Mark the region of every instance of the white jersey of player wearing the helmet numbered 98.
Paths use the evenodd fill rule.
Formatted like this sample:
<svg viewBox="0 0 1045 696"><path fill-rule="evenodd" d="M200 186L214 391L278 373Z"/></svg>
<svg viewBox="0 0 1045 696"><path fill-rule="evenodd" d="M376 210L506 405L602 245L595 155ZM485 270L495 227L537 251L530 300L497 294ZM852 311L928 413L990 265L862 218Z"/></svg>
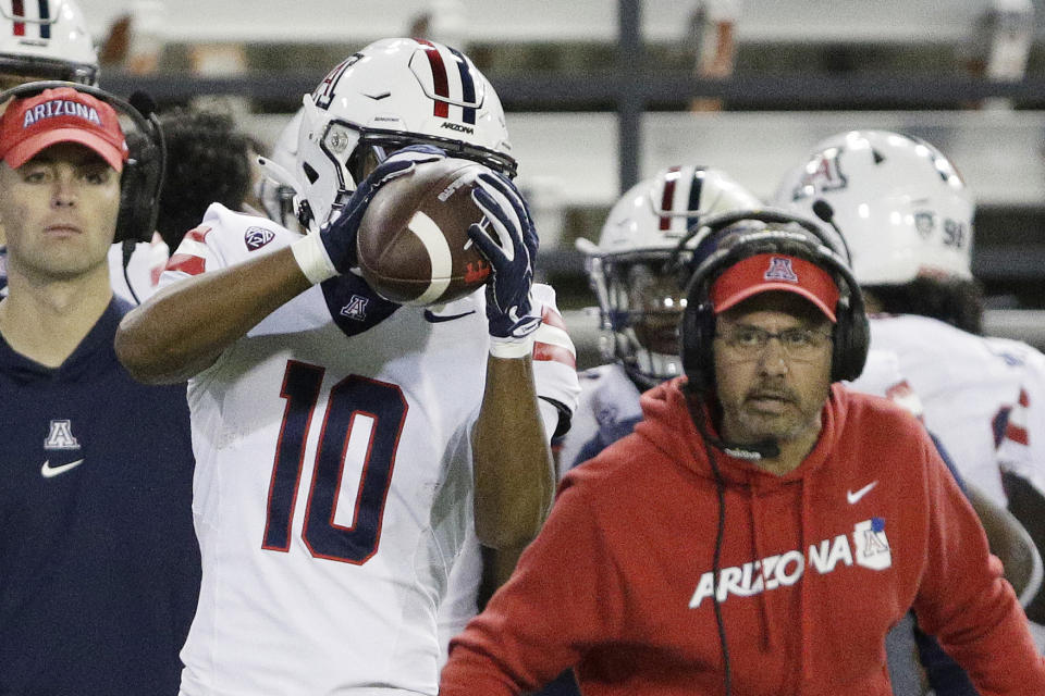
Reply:
<svg viewBox="0 0 1045 696"><path fill-rule="evenodd" d="M1026 360L1015 357L1015 346L1023 345L983 338L910 314L872 316L871 345L899 357L900 371L924 406L925 425L939 437L958 472L1005 507L999 448L1025 447L1028 435L1026 430L1022 435L1017 430L1025 414L1012 418L1021 394L1025 400ZM1024 443L1006 444L1013 436ZM1042 475L1029 475L1032 462L1026 457L1022 461L1019 473L1042 488Z"/></svg>

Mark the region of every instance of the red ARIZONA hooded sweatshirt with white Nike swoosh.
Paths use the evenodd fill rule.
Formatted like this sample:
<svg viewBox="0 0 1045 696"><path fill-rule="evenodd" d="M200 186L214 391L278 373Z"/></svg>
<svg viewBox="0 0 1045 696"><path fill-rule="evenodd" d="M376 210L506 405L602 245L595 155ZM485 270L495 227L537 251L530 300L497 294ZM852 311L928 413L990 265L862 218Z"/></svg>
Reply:
<svg viewBox="0 0 1045 696"><path fill-rule="evenodd" d="M451 645L441 696L725 693L711 597L714 476L680 380L630 436L564 478L512 580ZM892 696L884 639L913 607L983 696L1045 694L1001 564L922 425L832 389L777 476L712 450L725 480L720 598L734 696Z"/></svg>

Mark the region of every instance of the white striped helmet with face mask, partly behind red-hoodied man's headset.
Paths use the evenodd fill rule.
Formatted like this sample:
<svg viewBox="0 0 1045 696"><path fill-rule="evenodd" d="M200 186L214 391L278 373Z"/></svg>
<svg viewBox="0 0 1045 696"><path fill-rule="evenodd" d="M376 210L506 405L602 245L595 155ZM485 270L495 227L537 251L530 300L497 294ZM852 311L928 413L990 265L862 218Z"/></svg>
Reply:
<svg viewBox="0 0 1045 696"><path fill-rule="evenodd" d="M683 374L678 324L694 244L676 252L679 243L703 219L760 208L728 174L703 166L672 166L632 186L598 245L577 240L599 300L603 358L646 386Z"/></svg>

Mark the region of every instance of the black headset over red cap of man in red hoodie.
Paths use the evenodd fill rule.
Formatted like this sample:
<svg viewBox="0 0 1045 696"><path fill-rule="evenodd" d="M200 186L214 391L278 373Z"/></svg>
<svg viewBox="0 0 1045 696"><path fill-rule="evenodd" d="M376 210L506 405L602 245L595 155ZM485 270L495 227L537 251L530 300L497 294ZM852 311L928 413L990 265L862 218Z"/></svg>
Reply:
<svg viewBox="0 0 1045 696"><path fill-rule="evenodd" d="M740 222L775 226L729 229ZM729 266L759 253L804 258L833 275L840 291L832 333L831 380L851 381L860 376L868 359L871 328L860 285L849 268L845 247L833 232L812 220L779 210L739 211L705 220L699 229L690 231L678 248L698 234L700 239L691 261L696 270L686 286L686 310L680 332L683 369L690 389L706 394L714 386L712 284Z"/></svg>

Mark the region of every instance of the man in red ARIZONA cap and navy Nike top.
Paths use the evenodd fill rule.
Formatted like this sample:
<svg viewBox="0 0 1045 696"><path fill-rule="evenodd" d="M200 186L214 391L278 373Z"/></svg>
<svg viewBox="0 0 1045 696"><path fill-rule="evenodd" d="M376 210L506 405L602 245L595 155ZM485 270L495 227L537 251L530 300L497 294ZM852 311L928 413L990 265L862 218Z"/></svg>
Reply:
<svg viewBox="0 0 1045 696"><path fill-rule="evenodd" d="M0 120L4 695L176 694L199 588L184 386L137 384L112 347L128 307L106 256L121 197L147 191L121 192L116 112L87 91Z"/></svg>

